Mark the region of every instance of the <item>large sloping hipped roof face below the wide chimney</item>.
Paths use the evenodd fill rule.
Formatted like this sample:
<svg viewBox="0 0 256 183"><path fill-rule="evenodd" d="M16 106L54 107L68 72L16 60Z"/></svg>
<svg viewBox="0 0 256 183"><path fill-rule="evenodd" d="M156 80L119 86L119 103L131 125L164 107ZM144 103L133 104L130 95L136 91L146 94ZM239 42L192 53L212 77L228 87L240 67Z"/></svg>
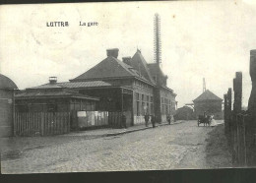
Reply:
<svg viewBox="0 0 256 183"><path fill-rule="evenodd" d="M133 73L130 69L131 66L123 63L117 58L108 56L104 60L99 62L95 67L71 81L75 82L102 78L133 77L136 74Z"/></svg>

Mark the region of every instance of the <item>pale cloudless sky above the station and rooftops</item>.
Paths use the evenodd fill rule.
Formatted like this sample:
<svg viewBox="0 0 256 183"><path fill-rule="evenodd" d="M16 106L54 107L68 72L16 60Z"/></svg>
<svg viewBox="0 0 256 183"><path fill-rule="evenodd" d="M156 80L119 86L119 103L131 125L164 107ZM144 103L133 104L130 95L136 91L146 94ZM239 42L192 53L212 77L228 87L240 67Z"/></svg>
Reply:
<svg viewBox="0 0 256 183"><path fill-rule="evenodd" d="M0 73L23 90L50 76L74 79L103 60L107 48L119 48L120 60L139 48L152 63L156 13L161 67L178 107L202 93L203 78L223 98L238 71L247 106L250 50L256 49L256 3L249 0L1 5ZM59 21L69 27L46 27Z"/></svg>

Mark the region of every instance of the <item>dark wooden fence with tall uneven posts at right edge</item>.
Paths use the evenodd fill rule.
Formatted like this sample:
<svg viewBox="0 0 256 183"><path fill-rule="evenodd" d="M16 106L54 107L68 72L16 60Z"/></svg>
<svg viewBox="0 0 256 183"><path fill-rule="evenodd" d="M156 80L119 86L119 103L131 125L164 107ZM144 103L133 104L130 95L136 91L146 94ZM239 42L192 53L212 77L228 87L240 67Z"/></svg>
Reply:
<svg viewBox="0 0 256 183"><path fill-rule="evenodd" d="M252 94L256 94L251 92ZM256 165L256 116L255 108L241 108L242 73L236 72L232 92L229 88L224 94L224 132L232 152L234 166Z"/></svg>

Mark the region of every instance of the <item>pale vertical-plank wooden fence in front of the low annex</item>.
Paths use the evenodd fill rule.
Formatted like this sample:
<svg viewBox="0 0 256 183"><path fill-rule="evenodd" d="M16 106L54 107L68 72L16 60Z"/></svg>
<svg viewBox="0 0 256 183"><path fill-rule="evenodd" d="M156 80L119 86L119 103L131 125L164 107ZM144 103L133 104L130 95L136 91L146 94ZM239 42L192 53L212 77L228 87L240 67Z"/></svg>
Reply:
<svg viewBox="0 0 256 183"><path fill-rule="evenodd" d="M69 132L70 114L68 112L15 113L15 136L49 136Z"/></svg>

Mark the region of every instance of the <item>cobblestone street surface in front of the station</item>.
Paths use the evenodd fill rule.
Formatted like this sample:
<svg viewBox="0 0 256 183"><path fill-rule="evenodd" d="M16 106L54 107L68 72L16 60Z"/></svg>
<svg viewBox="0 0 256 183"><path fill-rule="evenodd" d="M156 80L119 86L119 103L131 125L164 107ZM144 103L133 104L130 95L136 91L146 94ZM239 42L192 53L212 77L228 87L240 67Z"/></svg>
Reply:
<svg viewBox="0 0 256 183"><path fill-rule="evenodd" d="M215 127L188 121L120 136L37 147L3 159L2 173L209 168L205 147ZM54 138L54 137L52 137Z"/></svg>

